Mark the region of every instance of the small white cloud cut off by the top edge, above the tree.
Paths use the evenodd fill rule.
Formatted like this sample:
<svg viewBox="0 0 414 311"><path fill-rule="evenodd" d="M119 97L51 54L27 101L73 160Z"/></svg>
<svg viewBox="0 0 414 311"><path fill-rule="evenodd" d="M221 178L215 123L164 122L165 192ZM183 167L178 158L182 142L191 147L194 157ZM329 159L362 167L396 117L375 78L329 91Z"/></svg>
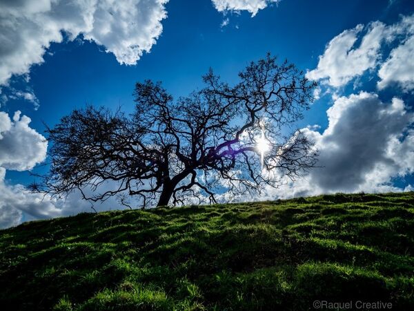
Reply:
<svg viewBox="0 0 414 311"><path fill-rule="evenodd" d="M280 0L212 0L213 5L219 12L238 12L246 10L254 17L259 10L263 10L271 3L278 3Z"/></svg>

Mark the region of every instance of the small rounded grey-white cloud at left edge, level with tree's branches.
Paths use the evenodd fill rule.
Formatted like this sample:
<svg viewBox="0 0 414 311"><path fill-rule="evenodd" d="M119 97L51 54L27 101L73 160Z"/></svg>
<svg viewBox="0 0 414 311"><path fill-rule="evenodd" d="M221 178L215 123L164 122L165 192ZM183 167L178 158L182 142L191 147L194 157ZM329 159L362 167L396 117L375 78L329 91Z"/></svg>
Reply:
<svg viewBox="0 0 414 311"><path fill-rule="evenodd" d="M14 113L13 120L0 111L0 167L26 171L45 160L48 142L30 128L30 121L20 111Z"/></svg>

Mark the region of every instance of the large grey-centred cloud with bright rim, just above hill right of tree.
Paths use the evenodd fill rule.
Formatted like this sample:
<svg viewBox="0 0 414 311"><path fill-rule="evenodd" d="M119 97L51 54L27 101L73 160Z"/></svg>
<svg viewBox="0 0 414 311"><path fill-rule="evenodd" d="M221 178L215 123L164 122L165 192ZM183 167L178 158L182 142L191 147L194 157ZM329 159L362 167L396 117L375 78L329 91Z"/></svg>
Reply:
<svg viewBox="0 0 414 311"><path fill-rule="evenodd" d="M414 114L402 100L385 104L362 92L339 97L327 114L323 133L313 127L302 130L315 141L321 167L295 182L286 180L279 189L266 189L265 198L404 190L392 182L414 173L414 131L408 130Z"/></svg>

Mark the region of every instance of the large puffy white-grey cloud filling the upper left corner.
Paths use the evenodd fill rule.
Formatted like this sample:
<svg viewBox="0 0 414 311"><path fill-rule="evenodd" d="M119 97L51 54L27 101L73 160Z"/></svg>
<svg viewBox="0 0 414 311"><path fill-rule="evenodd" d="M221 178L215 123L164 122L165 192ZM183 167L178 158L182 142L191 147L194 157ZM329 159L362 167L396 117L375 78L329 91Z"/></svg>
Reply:
<svg viewBox="0 0 414 311"><path fill-rule="evenodd" d="M41 64L51 42L82 34L136 64L161 35L168 0L6 0L0 2L0 85Z"/></svg>

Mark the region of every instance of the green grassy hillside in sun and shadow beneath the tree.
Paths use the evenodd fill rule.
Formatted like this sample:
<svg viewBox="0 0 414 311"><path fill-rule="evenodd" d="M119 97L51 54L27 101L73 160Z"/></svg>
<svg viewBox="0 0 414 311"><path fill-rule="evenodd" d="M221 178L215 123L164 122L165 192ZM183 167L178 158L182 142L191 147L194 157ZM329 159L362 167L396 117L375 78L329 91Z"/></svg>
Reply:
<svg viewBox="0 0 414 311"><path fill-rule="evenodd" d="M1 310L414 310L414 193L108 211L0 231Z"/></svg>

